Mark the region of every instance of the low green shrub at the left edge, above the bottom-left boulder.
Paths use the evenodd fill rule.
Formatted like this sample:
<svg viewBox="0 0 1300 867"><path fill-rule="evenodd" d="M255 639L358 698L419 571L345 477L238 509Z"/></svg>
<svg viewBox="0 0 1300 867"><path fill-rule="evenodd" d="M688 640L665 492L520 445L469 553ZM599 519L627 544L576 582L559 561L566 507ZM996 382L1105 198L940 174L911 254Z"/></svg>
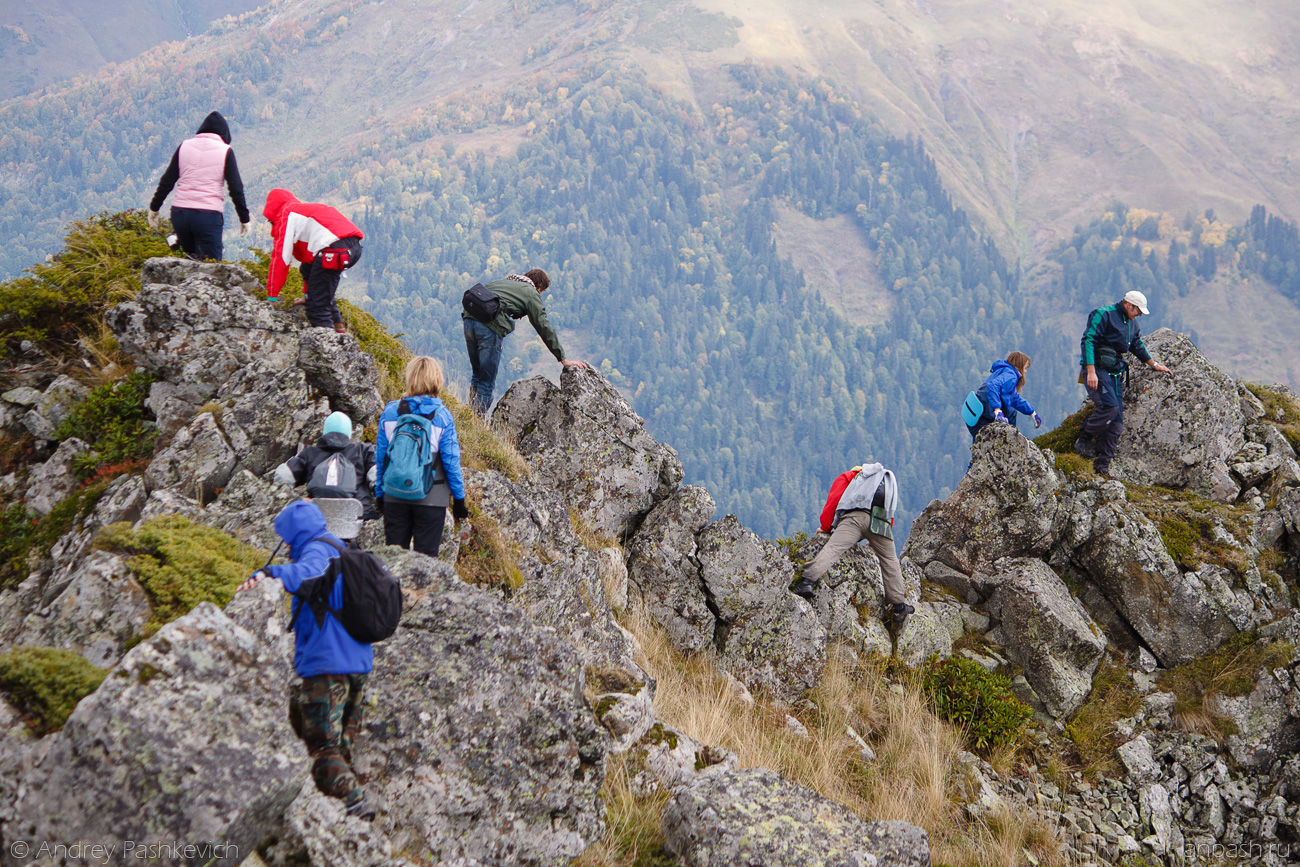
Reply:
<svg viewBox="0 0 1300 867"><path fill-rule="evenodd" d="M0 692L27 715L36 734L61 729L77 702L107 676L107 668L61 647L17 647L0 656Z"/></svg>

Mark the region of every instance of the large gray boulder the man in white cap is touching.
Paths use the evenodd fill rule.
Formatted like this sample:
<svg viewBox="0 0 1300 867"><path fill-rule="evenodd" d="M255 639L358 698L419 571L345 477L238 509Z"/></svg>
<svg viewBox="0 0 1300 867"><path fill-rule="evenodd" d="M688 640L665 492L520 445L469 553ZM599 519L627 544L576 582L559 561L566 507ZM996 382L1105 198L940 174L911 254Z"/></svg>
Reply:
<svg viewBox="0 0 1300 867"><path fill-rule="evenodd" d="M1141 485L1234 499L1239 487L1227 461L1245 445L1236 382L1210 364L1186 334L1162 328L1144 342L1170 373L1132 367L1114 474Z"/></svg>

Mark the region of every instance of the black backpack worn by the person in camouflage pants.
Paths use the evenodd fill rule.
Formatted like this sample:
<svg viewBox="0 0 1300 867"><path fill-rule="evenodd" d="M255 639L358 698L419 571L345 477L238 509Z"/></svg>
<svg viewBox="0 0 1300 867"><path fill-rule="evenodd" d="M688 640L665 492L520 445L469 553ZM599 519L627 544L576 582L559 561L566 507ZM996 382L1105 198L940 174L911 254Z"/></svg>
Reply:
<svg viewBox="0 0 1300 867"><path fill-rule="evenodd" d="M338 549L330 559L325 575L303 581L299 602L312 610L317 628L325 625L325 615L333 615L354 641L373 645L396 632L402 620L402 585L387 567L369 551L346 547L333 539L321 538ZM330 593L339 572L343 575L343 607L332 608ZM296 623L296 619L295 619Z"/></svg>

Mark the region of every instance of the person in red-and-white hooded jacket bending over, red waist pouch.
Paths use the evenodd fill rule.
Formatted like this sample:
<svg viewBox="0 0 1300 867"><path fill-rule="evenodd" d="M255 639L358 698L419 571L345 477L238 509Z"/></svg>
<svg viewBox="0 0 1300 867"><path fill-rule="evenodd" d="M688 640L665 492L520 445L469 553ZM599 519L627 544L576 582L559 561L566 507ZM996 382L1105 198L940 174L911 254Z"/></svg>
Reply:
<svg viewBox="0 0 1300 867"><path fill-rule="evenodd" d="M266 299L280 298L289 277L289 265L296 259L303 274L307 321L318 328L333 326L346 333L343 315L334 295L343 270L361 257L365 235L342 213L328 204L299 201L289 190L266 194L261 216L270 221L270 270L266 274Z"/></svg>

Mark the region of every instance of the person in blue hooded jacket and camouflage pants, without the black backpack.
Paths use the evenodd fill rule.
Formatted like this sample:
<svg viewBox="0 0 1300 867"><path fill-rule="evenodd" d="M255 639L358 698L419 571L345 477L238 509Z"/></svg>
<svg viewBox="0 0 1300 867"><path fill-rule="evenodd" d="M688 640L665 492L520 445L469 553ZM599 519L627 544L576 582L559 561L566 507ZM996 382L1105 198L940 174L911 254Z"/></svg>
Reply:
<svg viewBox="0 0 1300 867"><path fill-rule="evenodd" d="M276 516L276 533L289 545L292 562L257 571L239 586L240 591L270 576L285 585L285 593L294 594L306 581L325 575L330 560L339 556L334 545L342 542L326 532L325 516L308 500L286 506ZM335 610L343 607L341 573L329 604ZM291 701L302 719L299 736L312 757L312 779L322 793L339 798L350 815L373 819L374 809L367 803L352 771L352 744L361 728L361 698L374 653L370 645L347 634L328 611L317 620L298 597L290 607L290 621L295 636L294 671L303 679Z"/></svg>

